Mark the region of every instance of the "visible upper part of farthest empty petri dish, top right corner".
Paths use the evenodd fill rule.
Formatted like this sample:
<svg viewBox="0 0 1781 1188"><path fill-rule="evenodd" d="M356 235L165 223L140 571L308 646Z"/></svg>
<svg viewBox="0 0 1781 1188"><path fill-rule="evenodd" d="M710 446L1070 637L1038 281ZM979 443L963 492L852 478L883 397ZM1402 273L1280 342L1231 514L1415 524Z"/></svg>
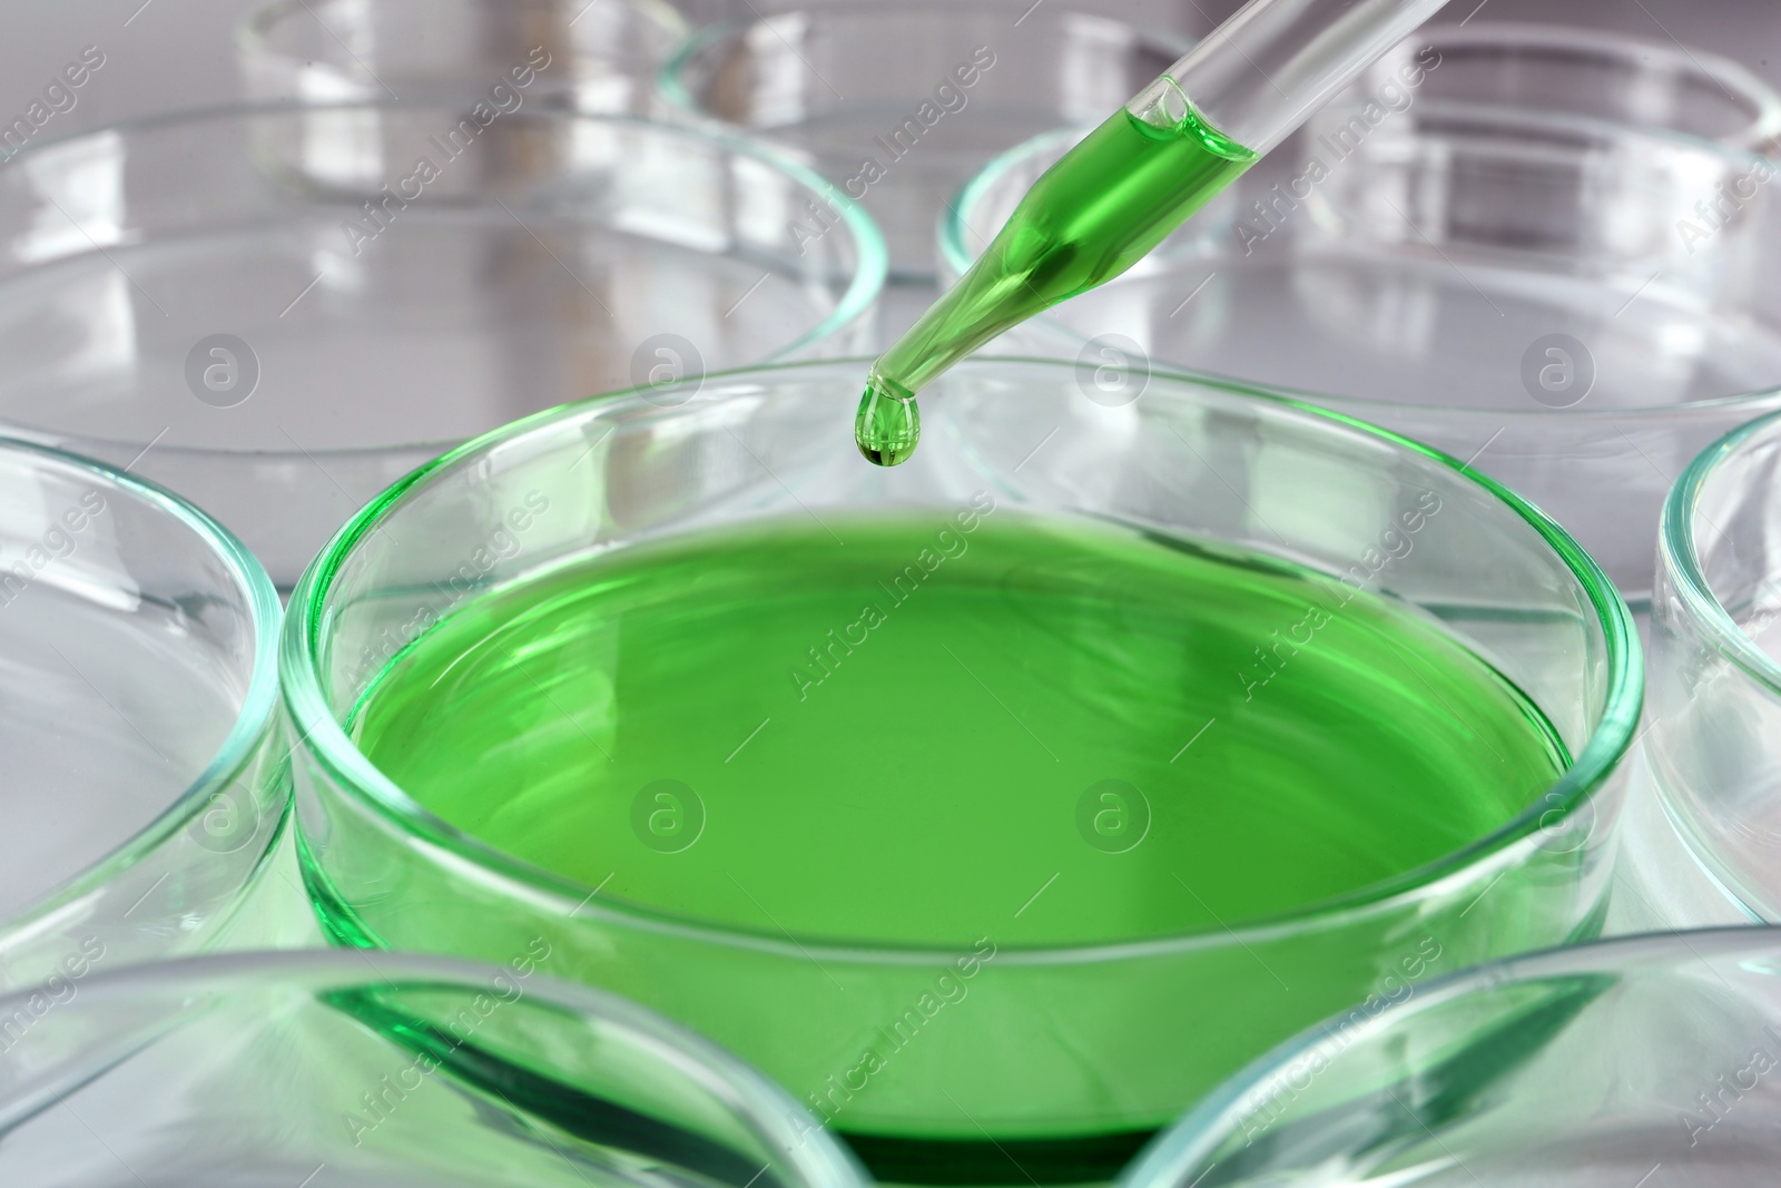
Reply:
<svg viewBox="0 0 1781 1188"><path fill-rule="evenodd" d="M1589 116L1769 151L1781 93L1731 59L1605 28L1468 21L1425 25L1375 62L1352 98L1396 105L1405 71L1439 62L1416 102L1462 102Z"/></svg>

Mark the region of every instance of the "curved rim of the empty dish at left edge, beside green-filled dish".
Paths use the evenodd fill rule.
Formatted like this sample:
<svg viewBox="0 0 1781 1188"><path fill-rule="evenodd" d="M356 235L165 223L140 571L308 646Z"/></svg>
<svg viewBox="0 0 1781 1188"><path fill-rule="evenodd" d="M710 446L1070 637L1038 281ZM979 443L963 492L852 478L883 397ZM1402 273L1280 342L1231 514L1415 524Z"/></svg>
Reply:
<svg viewBox="0 0 1781 1188"><path fill-rule="evenodd" d="M16 436L0 435L0 451L28 451L59 467L85 470L98 476L105 484L123 490L134 499L153 504L160 511L180 520L187 529L196 533L199 540L210 545L210 552L223 559L230 574L240 584L242 591L248 595L248 607L253 616L255 632L253 675L248 679L242 705L235 714L235 725L230 727L230 732L223 737L223 743L217 746L217 753L210 757L205 769L199 771L185 791L162 809L153 821L130 835L130 839L121 846L93 866L55 883L18 914L0 919L0 930L4 930L20 921L41 915L45 908L84 894L85 891L109 882L119 871L135 866L142 855L159 848L167 837L191 825L199 812L207 810L212 793L226 787L240 775L242 768L253 757L255 746L278 721L278 636L281 629L280 620L283 616L283 604L278 600L278 590L272 586L272 579L265 574L265 566L262 566L260 561L248 552L248 547L242 545L226 527L167 488L150 483L148 479L139 479L134 474L118 470L102 461ZM283 826L274 832L274 842L281 828Z"/></svg>

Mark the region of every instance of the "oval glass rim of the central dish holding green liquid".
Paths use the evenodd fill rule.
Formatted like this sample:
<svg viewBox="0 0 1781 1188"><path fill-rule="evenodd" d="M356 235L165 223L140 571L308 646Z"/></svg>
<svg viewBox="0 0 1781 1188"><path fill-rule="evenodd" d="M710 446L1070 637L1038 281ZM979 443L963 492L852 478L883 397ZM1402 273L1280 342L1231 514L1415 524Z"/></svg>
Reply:
<svg viewBox="0 0 1781 1188"><path fill-rule="evenodd" d="M703 390L711 390L712 381L748 381L785 372L841 367L851 367L857 369L858 374L864 374L869 363L869 358L830 358L800 360L796 363L780 363L773 367L737 367L709 372L703 376L702 385ZM1042 369L1058 369L1060 372L1072 367L1069 362L1022 356L976 356L964 365L971 367L972 363L1037 365ZM1460 460L1355 417L1309 404L1289 394L1216 376L1199 376L1193 372L1156 367L1151 370L1151 379L1191 383L1225 395L1259 399L1266 404L1293 410L1316 420L1329 422L1343 431L1386 442L1395 449L1421 454L1423 458L1446 467L1466 481L1484 488L1487 495L1507 504L1523 520L1523 524L1541 534L1546 545L1558 554L1565 568L1571 570L1573 577L1576 577L1583 586L1605 639L1606 700L1601 721L1590 732L1589 741L1576 753L1571 766L1544 794L1532 800L1516 818L1491 834L1462 846L1460 850L1443 855L1434 862L1400 873L1389 880L1359 887L1341 896L1330 896L1277 915L1245 921L1236 928L1209 926L1167 937L1108 944L1004 946L1003 953L1008 956L1008 964L1094 964L1136 955L1177 953L1225 946L1232 939L1243 944L1247 940L1281 932L1295 932L1323 921L1386 908L1400 899L1412 899L1430 885L1439 883L1443 878L1460 875L1475 864L1503 853L1516 842L1542 828L1542 819L1549 819L1553 812L1569 814L1612 777L1621 759L1631 748L1633 730L1644 705L1644 664L1639 632L1633 627L1631 611L1626 607L1626 600L1621 598L1621 593L1614 588L1614 582L1608 581L1608 575L1596 565L1594 557L1590 557L1565 529L1562 529L1526 499L1516 495L1496 479L1471 470ZM351 520L347 520L347 524L335 533L315 559L310 561L290 595L292 613L285 620L280 647L280 684L283 689L285 707L294 727L299 730L299 736L306 741L308 753L342 789L362 800L386 819L395 821L410 834L445 848L458 858L515 880L525 889L527 894L561 899L565 910L588 908L588 901L593 898L590 894L590 887L525 862L470 834L465 834L463 830L458 830L415 801L401 789L401 785L383 775L360 753L360 750L347 737L346 730L342 730L340 723L335 720L333 712L328 709L321 682L317 680L321 625L328 616L328 595L331 591L333 579L340 572L346 557L362 540L367 540L383 527L383 522L408 492L426 484L435 476L451 470L459 461L488 447L524 438L525 435L543 429L559 419L582 417L590 413L600 415L606 408L620 406L623 401L643 394L645 388L625 388L536 411L529 417L484 433L479 438L465 442L458 449L435 458L424 467L419 467L403 479L395 481L378 499L365 504ZM787 933L775 935L748 928L718 926L703 919L663 912L645 903L630 903L613 898L604 899L600 910L611 917L622 919L632 928L687 937L703 944L748 948L787 958L809 960L810 953L825 953L834 955L837 960L880 965L928 965L942 956L951 960L951 949L939 946L883 944L873 940L798 937Z"/></svg>

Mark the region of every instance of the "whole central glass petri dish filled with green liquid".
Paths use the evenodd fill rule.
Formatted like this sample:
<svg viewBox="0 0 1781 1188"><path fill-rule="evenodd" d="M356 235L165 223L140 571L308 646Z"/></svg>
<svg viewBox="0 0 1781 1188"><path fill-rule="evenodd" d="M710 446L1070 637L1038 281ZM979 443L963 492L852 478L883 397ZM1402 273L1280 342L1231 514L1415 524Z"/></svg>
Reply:
<svg viewBox="0 0 1781 1188"><path fill-rule="evenodd" d="M883 1181L1090 1183L1256 1053L1402 978L1428 937L1439 967L1457 969L1596 932L1619 761L1642 698L1639 643L1601 572L1541 513L1455 460L1288 399L1126 372L1142 399L1110 404L1097 379L1113 376L1031 360L949 372L924 403L923 451L883 472L851 449L846 413L866 365L712 374L673 406L654 390L538 413L410 476L331 541L292 595L283 682L305 737L299 857L337 944L486 956L545 935L561 972L734 1047ZM971 513L985 500L990 527ZM1418 508L1439 515L1407 517ZM967 522L976 543L962 547ZM910 524L917 538L899 536ZM1122 543L1081 543L1110 533ZM1526 698L1512 734L1546 721L1573 759L1485 777L1514 787L1491 825L1462 828L1464 841L1432 846L1414 869L1309 898L1288 889L1297 860L1277 853L1256 857L1272 875L1245 876L1218 846L1200 848L1216 830L1193 825L1195 805L1208 821L1224 805L1266 809L1275 800L1216 789L1245 778L1240 762L1323 755L1318 739L1346 736L1318 732L1323 709L1273 700L1318 680L1243 670L1252 645L1272 647L1270 625L1304 634L1291 631L1311 614L1302 600L1282 604L1282 622L1216 629L1236 648L1229 670L1215 652L1188 670L1209 673L1199 684L1216 689L1218 723L1170 700L1199 688L1151 668L1181 654L1179 638L1158 641L1147 613L1122 618L1140 598L1118 586L1154 582L1124 549L1177 547L1158 541L1346 574L1435 632L1419 639L1489 657ZM748 549L755 563L737 552ZM978 570L939 559L965 549L1001 559ZM627 568L664 556L680 566L657 570L666 584ZM855 604L839 595L844 618L803 618L800 591L826 590L823 566L842 563L885 582L860 595L882 600L880 632L917 634L862 643L871 622L850 622ZM898 593L946 614L960 604L912 593L914 563L953 565L935 590L988 609L935 643L919 623L942 611L896 609ZM1110 570L1120 577L1072 611L1026 597ZM785 588L736 586L737 572L784 581L796 613L777 609ZM533 600L538 590L552 600ZM568 600L554 600L563 590ZM664 590L650 604L663 614L575 600L630 590ZM1179 590L1147 606L1199 606ZM509 613L508 597L527 609ZM456 650L459 625L479 622L493 625L492 643ZM709 655L712 643L750 654ZM406 668L424 655L445 659L449 693L431 705L470 716L426 718L422 705L406 720L385 700L433 688L431 675L408 680L433 673ZM1289 671L1311 663L1273 655L1302 666ZM905 680L899 693L882 695L892 686L873 673L887 671ZM1151 675L1122 684L1129 671ZM816 673L828 675L812 689ZM866 702L848 691L853 673L871 682L853 689L874 689ZM479 688L518 700L492 705ZM1060 702L1058 689L1072 693ZM636 698L652 709L618 723ZM1168 712L1147 709L1140 727L1149 702ZM1329 702L1341 698L1318 705ZM1411 732L1469 721L1452 768L1468 784L1485 746L1519 746L1482 711L1425 704L1416 684L1398 705L1421 725L1343 752L1370 773L1345 784L1355 796L1405 789L1377 816L1391 828L1364 846L1421 828L1403 805L1457 798L1435 780L1443 796L1428 800L1375 764L1409 753ZM933 705L939 721L923 718ZM1243 721L1284 734L1231 752L1248 737ZM411 745L404 723L419 723ZM534 750L557 745L549 759ZM976 775L960 780L953 764ZM541 771L572 775L534 780ZM1322 787L1314 771L1293 778L1268 787L1293 803L1295 787ZM486 814L436 800L447 785ZM554 800L561 789L570 801ZM1282 816L1323 821L1316 796ZM1305 864L1348 846L1307 828L1323 841L1307 842ZM1289 848L1300 835L1268 837ZM575 841L543 855L563 839ZM1158 915L1143 915L1149 905ZM1183 1029L1184 1013L1220 1024Z"/></svg>

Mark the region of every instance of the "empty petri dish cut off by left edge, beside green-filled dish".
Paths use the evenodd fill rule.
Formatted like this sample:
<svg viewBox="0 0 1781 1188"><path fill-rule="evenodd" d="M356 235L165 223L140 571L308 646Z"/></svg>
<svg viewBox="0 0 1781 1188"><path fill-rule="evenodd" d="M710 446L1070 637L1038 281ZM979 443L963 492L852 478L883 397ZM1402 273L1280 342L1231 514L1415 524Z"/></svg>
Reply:
<svg viewBox="0 0 1781 1188"><path fill-rule="evenodd" d="M290 801L278 616L192 506L0 438L0 990L233 919Z"/></svg>

